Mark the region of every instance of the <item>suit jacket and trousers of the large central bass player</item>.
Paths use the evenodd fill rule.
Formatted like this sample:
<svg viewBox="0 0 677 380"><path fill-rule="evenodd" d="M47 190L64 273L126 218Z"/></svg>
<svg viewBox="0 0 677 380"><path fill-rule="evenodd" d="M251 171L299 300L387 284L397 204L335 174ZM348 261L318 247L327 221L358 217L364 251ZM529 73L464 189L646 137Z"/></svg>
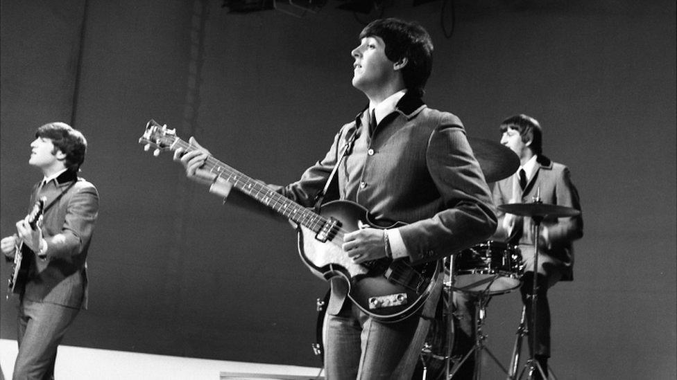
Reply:
<svg viewBox="0 0 677 380"><path fill-rule="evenodd" d="M373 134L366 114L343 125L325 157L280 192L312 206L341 148L357 131L350 154L339 165L339 198L364 206L378 223L406 223L399 230L411 262L440 260L494 232L490 191L459 118L429 109L409 93ZM427 316L434 311L440 287L441 282L424 307ZM344 282L332 280L325 319L327 374L336 379L411 377L411 372L400 371L413 369L425 338L421 328L415 334L418 314L398 323L378 323L345 302L346 290ZM427 323L423 326L426 330ZM394 370L397 365L400 369Z"/></svg>

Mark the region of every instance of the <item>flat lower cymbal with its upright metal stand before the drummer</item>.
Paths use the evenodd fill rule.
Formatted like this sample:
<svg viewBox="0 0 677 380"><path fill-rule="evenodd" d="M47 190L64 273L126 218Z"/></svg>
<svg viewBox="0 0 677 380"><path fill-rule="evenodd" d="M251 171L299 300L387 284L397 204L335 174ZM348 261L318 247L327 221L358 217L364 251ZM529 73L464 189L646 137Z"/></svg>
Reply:
<svg viewBox="0 0 677 380"><path fill-rule="evenodd" d="M545 379L545 371L543 368L541 368L540 364L538 361L535 360L533 351L536 347L536 304L538 302L538 296L536 291L538 290L538 281L535 280L536 275L535 273L538 273L538 237L540 236L540 224L545 219L546 217L575 217L576 215L579 215L581 213L580 210L576 210L575 208L570 208L570 207L565 207L565 206L558 206L554 204L547 204L543 203L540 199L540 188L536 189L536 195L533 197L533 203L508 203L508 204L503 204L498 206L499 210L502 210L504 212L507 212L508 214L514 214L514 215L520 215L522 217L531 217L531 220L533 220L533 273L534 273L534 280L533 280L533 288L531 289L531 323L528 327L528 332L529 336L531 338L531 352L529 353L529 360L526 361L526 364L524 365L524 369L522 370L522 373L520 374L519 379L522 378L522 375L524 373L527 373L529 376L529 379L533 379L535 376L535 371L538 370L540 373L541 377ZM526 313L526 311L525 311ZM526 323L525 323L526 325ZM518 336L520 338L520 336ZM517 342L515 343L517 345ZM520 348L521 348L521 341L520 341ZM513 361L519 361L519 357L515 358L515 355L517 354L515 350L513 352ZM514 365L514 364L513 364ZM546 369L547 370L547 369ZM513 371L512 374L514 376L516 371ZM510 374L508 374L510 375ZM515 379L514 377L508 377L508 379Z"/></svg>

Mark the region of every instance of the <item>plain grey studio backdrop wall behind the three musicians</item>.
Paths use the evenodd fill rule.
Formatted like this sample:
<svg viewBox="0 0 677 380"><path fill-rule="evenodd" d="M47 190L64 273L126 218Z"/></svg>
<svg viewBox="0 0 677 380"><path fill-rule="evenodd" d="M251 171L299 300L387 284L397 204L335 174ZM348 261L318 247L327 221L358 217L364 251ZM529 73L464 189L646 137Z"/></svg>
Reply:
<svg viewBox="0 0 677 380"><path fill-rule="evenodd" d="M378 12L329 1L304 17L238 15L222 3L0 3L0 233L40 179L28 145L44 123L85 133L82 175L101 195L89 311L64 344L320 365L310 343L327 284L298 258L293 230L221 206L137 140L155 118L252 177L294 181L366 105L350 51ZM545 154L572 170L585 236L575 281L549 297L555 373L674 379L675 2L459 0L449 38L449 4L440 15L443 1L400 3L384 16L419 21L435 43L431 107L495 140L507 116L534 116ZM5 293L0 335L15 338ZM520 309L515 292L488 308L487 343L505 365Z"/></svg>

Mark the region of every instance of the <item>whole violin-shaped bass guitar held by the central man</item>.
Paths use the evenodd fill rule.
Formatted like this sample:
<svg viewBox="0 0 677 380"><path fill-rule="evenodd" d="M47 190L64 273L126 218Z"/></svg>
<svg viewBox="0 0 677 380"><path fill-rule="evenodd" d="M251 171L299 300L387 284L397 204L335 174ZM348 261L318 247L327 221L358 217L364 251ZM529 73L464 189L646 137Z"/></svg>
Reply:
<svg viewBox="0 0 677 380"><path fill-rule="evenodd" d="M146 125L139 138L145 149L153 148L154 155L161 151L182 148L191 152L196 148L178 138L175 129L167 129L155 120ZM366 208L351 201L325 203L318 212L275 192L268 186L209 156L204 169L216 174L263 203L278 214L293 221L297 227L298 252L311 272L324 280L339 277L348 283L348 297L362 311L375 320L396 322L424 305L440 273L438 261L411 266L406 260L378 260L355 264L343 251L343 237L364 226L378 226L370 221Z"/></svg>

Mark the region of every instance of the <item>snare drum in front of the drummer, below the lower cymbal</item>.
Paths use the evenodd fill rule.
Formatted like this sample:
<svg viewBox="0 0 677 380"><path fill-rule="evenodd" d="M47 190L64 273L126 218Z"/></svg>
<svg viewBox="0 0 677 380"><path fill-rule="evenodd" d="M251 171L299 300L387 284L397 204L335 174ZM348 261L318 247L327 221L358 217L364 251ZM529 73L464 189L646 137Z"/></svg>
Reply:
<svg viewBox="0 0 677 380"><path fill-rule="evenodd" d="M454 256L452 289L467 292L508 293L522 282L520 248L489 240Z"/></svg>

